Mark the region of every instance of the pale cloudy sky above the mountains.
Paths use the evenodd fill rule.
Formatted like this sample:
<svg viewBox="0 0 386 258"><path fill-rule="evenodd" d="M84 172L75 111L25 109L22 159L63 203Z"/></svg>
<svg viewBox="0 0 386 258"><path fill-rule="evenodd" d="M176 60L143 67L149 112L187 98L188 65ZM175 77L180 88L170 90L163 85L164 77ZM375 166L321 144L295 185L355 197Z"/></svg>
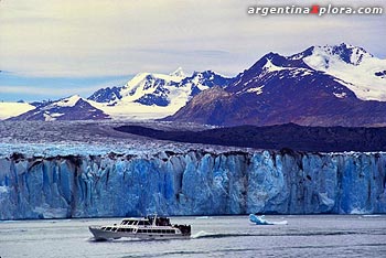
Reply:
<svg viewBox="0 0 386 258"><path fill-rule="evenodd" d="M386 3L259 0L0 0L0 101L87 97L141 72L234 76L268 52L358 45L386 58ZM248 14L249 7L328 3L382 15Z"/></svg>

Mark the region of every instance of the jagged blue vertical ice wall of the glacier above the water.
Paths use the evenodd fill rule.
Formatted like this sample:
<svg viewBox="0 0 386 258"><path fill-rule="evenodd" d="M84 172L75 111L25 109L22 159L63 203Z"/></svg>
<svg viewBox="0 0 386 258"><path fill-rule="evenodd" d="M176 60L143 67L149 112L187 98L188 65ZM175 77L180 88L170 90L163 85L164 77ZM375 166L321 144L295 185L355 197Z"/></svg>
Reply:
<svg viewBox="0 0 386 258"><path fill-rule="evenodd" d="M386 213L386 153L160 152L0 159L0 219Z"/></svg>

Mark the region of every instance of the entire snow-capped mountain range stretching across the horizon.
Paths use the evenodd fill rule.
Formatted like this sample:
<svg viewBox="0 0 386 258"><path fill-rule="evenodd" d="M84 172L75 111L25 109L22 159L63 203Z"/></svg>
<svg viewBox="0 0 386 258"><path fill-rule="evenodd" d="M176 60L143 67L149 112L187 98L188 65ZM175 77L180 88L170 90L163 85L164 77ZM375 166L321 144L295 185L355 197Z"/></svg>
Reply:
<svg viewBox="0 0 386 258"><path fill-rule="evenodd" d="M379 126L386 125L386 60L344 43L311 46L290 56L268 53L234 78L212 71L186 76L180 67L140 73L122 86L75 99L74 106L61 106L63 99L24 106L33 110L14 119L170 116L165 120L222 126Z"/></svg>

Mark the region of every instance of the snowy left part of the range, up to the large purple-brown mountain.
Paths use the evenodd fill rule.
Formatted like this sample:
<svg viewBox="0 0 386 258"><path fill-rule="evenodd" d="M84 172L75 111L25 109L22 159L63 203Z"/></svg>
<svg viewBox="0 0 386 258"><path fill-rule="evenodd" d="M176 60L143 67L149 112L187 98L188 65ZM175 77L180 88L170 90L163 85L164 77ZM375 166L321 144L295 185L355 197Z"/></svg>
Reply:
<svg viewBox="0 0 386 258"><path fill-rule="evenodd" d="M140 73L124 86L98 89L87 99L76 95L54 101L0 105L0 119L96 120L110 118L162 118L174 114L201 92L215 86L225 87L229 82L229 78L212 71L194 72L192 76L186 76L181 67L171 74ZM15 107L20 111L17 111ZM11 109L14 110L11 111Z"/></svg>

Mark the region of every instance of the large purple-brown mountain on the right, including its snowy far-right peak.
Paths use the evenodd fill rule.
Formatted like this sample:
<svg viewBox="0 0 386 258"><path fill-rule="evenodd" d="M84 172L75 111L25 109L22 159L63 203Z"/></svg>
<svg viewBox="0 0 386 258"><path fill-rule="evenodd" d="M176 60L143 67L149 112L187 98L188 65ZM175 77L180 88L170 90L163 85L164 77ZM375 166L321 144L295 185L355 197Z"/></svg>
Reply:
<svg viewBox="0 0 386 258"><path fill-rule="evenodd" d="M165 120L218 126L386 125L385 69L384 60L346 44L313 46L292 56L269 53L228 86L200 93Z"/></svg>

